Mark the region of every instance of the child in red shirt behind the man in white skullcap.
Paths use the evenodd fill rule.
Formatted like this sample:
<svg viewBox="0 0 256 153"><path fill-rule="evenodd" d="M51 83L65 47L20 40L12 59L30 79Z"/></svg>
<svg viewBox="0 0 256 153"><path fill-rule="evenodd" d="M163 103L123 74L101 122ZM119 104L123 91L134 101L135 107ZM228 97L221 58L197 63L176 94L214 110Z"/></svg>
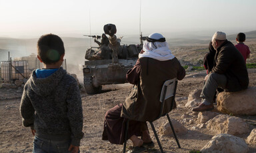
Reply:
<svg viewBox="0 0 256 153"><path fill-rule="evenodd" d="M235 40L237 41L237 45L235 45L235 47L238 49L241 55L243 55L243 59L245 59L246 63L246 59L249 59L251 51L249 50L249 47L243 43L245 42L245 34L237 34L237 38Z"/></svg>

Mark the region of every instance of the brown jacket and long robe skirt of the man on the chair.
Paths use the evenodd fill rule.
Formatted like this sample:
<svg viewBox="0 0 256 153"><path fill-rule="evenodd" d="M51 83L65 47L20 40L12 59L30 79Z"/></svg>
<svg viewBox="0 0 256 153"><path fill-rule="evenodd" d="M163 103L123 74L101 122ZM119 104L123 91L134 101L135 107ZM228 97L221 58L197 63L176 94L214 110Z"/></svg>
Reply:
<svg viewBox="0 0 256 153"><path fill-rule="evenodd" d="M109 140L113 144L123 144L127 118L130 119L127 138L133 135L141 136L141 131L147 130L145 121L151 121L156 114L159 114L160 93L158 92L161 92L163 82L172 78L181 80L184 76L185 70L176 58L169 61L157 61L147 57L138 59L133 69L127 72L127 80L135 84L131 93L124 104L111 108L105 114L103 140ZM155 106L157 108L154 108ZM168 112L171 102L165 107L164 112Z"/></svg>

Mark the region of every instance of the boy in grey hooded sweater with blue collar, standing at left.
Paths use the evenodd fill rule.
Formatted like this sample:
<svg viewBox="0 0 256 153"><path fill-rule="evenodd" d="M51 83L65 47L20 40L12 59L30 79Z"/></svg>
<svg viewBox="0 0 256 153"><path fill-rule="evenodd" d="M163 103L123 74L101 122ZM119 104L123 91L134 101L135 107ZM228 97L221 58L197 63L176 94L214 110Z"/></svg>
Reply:
<svg viewBox="0 0 256 153"><path fill-rule="evenodd" d="M65 49L60 37L43 35L37 58L44 69L33 71L21 98L23 126L35 136L33 152L79 152L83 110L77 81L61 67Z"/></svg>

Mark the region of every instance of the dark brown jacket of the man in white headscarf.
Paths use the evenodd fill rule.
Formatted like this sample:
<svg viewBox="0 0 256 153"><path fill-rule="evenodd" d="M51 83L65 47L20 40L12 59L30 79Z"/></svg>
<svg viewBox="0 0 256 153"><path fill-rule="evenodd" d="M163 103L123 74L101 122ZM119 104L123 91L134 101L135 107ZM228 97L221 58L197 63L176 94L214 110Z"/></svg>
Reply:
<svg viewBox="0 0 256 153"><path fill-rule="evenodd" d="M123 104L121 116L142 122L155 120L159 116L163 83L173 78L181 80L184 76L185 69L176 58L169 61L157 61L148 57L138 59L135 67L127 73L127 80L135 86ZM171 98L167 99L163 113L169 110Z"/></svg>

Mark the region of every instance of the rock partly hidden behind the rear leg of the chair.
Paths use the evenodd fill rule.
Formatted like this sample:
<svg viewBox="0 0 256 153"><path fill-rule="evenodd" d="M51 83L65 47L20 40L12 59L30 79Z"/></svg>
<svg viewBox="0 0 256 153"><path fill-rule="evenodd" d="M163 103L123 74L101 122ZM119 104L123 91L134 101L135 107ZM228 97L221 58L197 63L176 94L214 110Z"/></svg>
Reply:
<svg viewBox="0 0 256 153"><path fill-rule="evenodd" d="M183 126L180 122L175 119L171 119L171 123L173 124L173 128L176 134L185 134L187 133L187 128ZM159 134L164 136L173 136L173 131L171 130L171 126L169 122L165 122L159 128Z"/></svg>

